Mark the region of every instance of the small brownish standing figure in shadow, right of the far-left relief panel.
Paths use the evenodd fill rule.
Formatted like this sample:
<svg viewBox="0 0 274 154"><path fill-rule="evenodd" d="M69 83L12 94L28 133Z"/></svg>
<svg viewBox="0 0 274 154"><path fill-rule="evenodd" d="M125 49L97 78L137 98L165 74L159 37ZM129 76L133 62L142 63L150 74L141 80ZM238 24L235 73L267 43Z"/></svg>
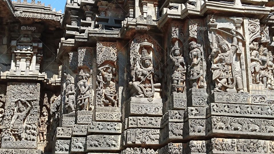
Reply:
<svg viewBox="0 0 274 154"><path fill-rule="evenodd" d="M47 134L47 121L48 121L48 112L46 107L43 107L42 115L39 121L39 138L40 142L46 141L46 134Z"/></svg>

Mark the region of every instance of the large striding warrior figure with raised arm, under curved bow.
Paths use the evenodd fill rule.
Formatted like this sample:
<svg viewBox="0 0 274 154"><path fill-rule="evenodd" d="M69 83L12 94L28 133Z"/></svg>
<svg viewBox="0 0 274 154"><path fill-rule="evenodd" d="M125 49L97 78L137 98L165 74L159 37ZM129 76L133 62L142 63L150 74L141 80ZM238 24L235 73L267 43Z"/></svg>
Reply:
<svg viewBox="0 0 274 154"><path fill-rule="evenodd" d="M224 92L237 86L237 93L247 93L243 90L241 69L234 66L233 56L240 56L242 49L238 46L236 30L231 29L229 35L233 36L233 42L230 44L221 35L214 36L212 32L212 52L210 59L212 62L211 70L213 72L212 80L215 81L213 92ZM217 46L215 46L215 41ZM240 58L238 58L240 59Z"/></svg>

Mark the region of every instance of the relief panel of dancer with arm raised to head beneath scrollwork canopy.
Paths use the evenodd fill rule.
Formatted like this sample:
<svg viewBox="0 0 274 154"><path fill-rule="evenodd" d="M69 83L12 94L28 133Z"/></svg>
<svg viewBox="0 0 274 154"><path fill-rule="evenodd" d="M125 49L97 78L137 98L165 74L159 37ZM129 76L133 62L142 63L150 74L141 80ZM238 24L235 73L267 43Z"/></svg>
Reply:
<svg viewBox="0 0 274 154"><path fill-rule="evenodd" d="M96 105L118 107L117 47L113 42L97 42Z"/></svg>

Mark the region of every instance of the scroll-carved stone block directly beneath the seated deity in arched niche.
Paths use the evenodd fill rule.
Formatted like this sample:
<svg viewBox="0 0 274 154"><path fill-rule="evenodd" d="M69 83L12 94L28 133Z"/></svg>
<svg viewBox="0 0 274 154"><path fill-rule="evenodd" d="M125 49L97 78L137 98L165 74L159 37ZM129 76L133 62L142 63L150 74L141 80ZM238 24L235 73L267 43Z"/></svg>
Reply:
<svg viewBox="0 0 274 154"><path fill-rule="evenodd" d="M147 98L131 97L126 102L126 115L128 116L162 116L163 103L161 98L153 98L149 102Z"/></svg>

